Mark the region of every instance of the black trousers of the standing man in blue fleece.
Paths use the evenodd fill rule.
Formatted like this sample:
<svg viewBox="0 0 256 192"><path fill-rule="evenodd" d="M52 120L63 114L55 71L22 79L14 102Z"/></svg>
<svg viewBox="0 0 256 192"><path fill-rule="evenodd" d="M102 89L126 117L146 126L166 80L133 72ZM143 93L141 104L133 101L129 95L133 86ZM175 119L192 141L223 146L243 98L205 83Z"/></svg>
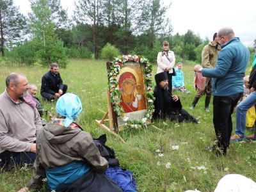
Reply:
<svg viewBox="0 0 256 192"><path fill-rule="evenodd" d="M236 93L229 96L213 97L213 124L218 147L223 149L223 153L227 153L227 147L230 143L232 133L232 113L243 93Z"/></svg>

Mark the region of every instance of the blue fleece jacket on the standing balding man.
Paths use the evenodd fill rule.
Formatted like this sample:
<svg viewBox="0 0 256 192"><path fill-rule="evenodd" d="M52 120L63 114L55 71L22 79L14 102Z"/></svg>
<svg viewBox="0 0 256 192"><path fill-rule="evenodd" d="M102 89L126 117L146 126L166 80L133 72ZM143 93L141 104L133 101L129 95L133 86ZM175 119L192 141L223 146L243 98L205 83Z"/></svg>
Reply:
<svg viewBox="0 0 256 192"><path fill-rule="evenodd" d="M238 37L221 45L215 68L203 68L202 76L212 77L212 95L243 93L243 75L250 58L249 50Z"/></svg>

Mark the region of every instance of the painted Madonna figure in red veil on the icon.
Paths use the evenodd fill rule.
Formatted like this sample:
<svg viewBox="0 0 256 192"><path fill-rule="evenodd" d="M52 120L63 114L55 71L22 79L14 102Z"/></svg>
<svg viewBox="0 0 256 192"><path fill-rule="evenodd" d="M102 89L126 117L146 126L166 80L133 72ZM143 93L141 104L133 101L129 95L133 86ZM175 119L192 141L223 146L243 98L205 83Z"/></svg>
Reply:
<svg viewBox="0 0 256 192"><path fill-rule="evenodd" d="M119 77L119 90L121 91L122 102L120 105L125 113L138 111L138 98L134 97L136 90L136 78L131 72L124 72Z"/></svg>

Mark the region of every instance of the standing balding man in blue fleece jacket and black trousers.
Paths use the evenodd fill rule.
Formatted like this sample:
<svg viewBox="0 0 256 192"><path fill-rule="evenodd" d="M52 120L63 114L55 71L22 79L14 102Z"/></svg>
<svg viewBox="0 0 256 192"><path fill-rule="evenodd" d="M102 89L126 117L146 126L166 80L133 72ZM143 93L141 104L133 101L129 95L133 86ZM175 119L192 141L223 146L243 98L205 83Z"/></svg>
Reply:
<svg viewBox="0 0 256 192"><path fill-rule="evenodd" d="M215 68L195 65L194 70L202 72L204 77L212 77L213 124L220 149L218 151L226 155L232 133L231 115L237 101L243 96L243 75L250 52L230 27L221 28L217 38L221 51Z"/></svg>

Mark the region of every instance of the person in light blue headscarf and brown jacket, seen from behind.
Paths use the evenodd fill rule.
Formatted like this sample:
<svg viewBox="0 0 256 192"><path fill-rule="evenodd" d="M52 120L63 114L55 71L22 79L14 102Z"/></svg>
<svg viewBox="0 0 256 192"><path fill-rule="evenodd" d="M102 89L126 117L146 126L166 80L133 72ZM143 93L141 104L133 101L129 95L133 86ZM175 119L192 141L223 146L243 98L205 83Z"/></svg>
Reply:
<svg viewBox="0 0 256 192"><path fill-rule="evenodd" d="M37 136L36 160L28 188L38 188L46 177L49 191L121 192L104 174L108 161L100 156L92 136L73 122L82 111L79 97L72 93L61 96L56 111L58 115Z"/></svg>

